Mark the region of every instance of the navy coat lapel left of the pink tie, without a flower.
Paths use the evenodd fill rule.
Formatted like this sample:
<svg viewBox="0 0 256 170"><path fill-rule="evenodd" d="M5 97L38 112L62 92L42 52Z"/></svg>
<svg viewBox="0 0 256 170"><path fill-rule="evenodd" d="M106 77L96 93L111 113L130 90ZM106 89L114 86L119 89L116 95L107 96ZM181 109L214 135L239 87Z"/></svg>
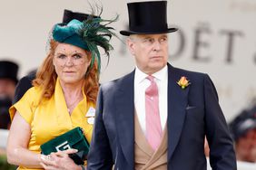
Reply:
<svg viewBox="0 0 256 170"><path fill-rule="evenodd" d="M123 155L129 164L134 161L134 71L118 83L115 96L117 141L123 150Z"/></svg>

